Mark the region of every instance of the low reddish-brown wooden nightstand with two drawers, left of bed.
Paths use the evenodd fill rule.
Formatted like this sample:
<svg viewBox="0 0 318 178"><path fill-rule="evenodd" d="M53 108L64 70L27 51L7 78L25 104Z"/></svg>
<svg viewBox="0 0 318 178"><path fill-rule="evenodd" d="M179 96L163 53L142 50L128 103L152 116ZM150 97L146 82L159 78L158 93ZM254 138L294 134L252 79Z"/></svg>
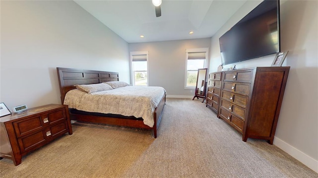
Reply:
<svg viewBox="0 0 318 178"><path fill-rule="evenodd" d="M50 104L0 118L0 157L19 165L22 156L69 132L72 126L66 105Z"/></svg>

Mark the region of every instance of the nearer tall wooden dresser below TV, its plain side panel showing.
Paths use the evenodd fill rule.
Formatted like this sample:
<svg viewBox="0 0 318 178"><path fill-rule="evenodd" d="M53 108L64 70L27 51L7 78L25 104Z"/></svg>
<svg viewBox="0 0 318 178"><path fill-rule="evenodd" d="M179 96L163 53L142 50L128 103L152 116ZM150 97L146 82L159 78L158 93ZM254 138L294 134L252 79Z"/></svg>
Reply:
<svg viewBox="0 0 318 178"><path fill-rule="evenodd" d="M247 138L273 144L290 67L255 67L223 72L218 117Z"/></svg>

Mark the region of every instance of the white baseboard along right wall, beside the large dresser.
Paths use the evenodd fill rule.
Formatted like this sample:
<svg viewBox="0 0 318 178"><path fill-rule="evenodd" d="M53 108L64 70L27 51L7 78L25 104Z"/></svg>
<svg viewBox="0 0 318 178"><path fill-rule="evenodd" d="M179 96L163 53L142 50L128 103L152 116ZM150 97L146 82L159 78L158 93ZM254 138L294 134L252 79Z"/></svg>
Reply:
<svg viewBox="0 0 318 178"><path fill-rule="evenodd" d="M306 155L302 151L298 150L297 148L293 147L292 145L286 143L285 141L274 137L273 144L276 145L278 148L282 149L298 161L302 162L308 168L312 169L316 173L318 173L318 161L314 158Z"/></svg>

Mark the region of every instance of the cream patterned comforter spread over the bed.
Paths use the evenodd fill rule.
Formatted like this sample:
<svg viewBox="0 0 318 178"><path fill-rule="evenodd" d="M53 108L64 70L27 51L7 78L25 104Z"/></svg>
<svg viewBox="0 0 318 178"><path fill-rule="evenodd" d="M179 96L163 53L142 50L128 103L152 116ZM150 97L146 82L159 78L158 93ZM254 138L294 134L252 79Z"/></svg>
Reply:
<svg viewBox="0 0 318 178"><path fill-rule="evenodd" d="M154 111L165 90L162 87L125 86L87 94L78 89L69 91L64 104L80 111L117 114L143 118L154 126Z"/></svg>

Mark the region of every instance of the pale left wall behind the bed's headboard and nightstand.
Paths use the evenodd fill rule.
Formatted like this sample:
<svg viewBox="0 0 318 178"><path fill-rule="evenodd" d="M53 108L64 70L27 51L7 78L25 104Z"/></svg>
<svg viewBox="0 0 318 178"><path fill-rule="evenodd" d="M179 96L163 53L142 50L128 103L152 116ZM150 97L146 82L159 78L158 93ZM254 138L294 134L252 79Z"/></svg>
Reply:
<svg viewBox="0 0 318 178"><path fill-rule="evenodd" d="M128 43L74 1L0 1L0 102L61 103L56 67L119 72L130 83Z"/></svg>

